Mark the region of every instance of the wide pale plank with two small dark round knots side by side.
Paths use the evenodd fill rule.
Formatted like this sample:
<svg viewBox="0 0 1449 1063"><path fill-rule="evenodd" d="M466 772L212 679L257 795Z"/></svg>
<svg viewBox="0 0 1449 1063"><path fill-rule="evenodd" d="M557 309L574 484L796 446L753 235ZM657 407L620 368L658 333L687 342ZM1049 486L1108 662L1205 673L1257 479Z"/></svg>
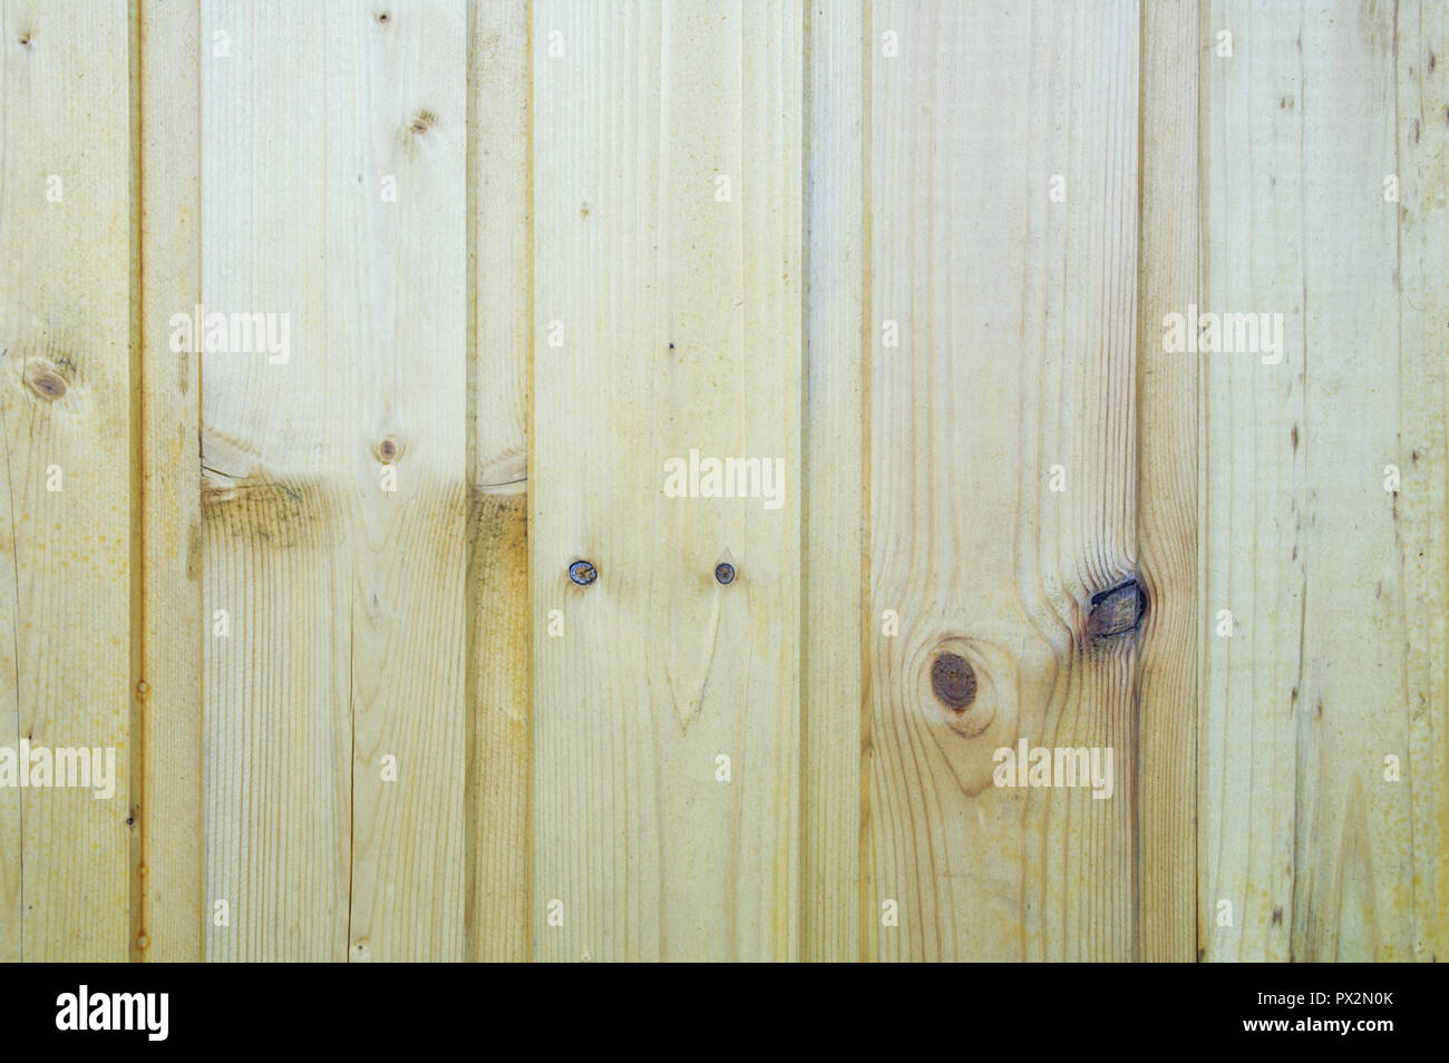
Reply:
<svg viewBox="0 0 1449 1063"><path fill-rule="evenodd" d="M796 3L533 6L543 959L798 956L801 33ZM782 491L667 495L691 450Z"/></svg>

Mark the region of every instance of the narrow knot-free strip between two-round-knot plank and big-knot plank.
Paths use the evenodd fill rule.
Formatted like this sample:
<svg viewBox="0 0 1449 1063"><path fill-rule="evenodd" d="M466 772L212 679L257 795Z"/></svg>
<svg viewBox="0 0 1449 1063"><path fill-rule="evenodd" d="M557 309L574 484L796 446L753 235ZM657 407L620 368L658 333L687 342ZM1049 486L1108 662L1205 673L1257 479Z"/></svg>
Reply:
<svg viewBox="0 0 1449 1063"><path fill-rule="evenodd" d="M806 12L801 959L861 956L864 3Z"/></svg>

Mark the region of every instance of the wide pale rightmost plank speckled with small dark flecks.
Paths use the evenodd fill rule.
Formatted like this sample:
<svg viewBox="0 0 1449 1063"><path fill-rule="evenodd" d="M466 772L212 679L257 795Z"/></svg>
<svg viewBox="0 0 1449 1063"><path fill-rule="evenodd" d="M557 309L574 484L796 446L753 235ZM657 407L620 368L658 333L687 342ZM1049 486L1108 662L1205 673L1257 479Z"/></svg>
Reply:
<svg viewBox="0 0 1449 1063"><path fill-rule="evenodd" d="M1419 558L1443 543L1443 114L1416 130L1395 109L1443 25L1404 6L1406 45L1392 6L1206 10L1233 55L1204 56L1203 308L1282 314L1284 340L1281 361L1203 359L1204 598L1235 631L1207 639L1201 946L1427 959L1445 572Z"/></svg>

